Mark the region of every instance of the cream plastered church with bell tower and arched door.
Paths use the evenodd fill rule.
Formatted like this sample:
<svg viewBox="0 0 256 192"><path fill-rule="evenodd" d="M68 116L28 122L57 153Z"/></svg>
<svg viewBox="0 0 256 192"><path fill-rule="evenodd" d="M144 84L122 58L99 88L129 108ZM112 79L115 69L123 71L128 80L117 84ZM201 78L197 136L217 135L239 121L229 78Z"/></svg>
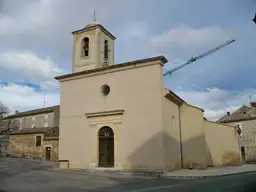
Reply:
<svg viewBox="0 0 256 192"><path fill-rule="evenodd" d="M114 63L116 37L95 21L73 34L61 84L61 168L206 169L240 165L236 127L164 88L164 56Z"/></svg>

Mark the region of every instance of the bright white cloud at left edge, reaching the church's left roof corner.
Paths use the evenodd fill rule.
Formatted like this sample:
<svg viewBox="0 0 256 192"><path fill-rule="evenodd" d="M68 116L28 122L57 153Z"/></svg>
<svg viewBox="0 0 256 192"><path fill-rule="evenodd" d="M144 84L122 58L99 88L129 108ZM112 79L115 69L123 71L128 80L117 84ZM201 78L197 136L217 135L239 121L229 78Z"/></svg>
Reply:
<svg viewBox="0 0 256 192"><path fill-rule="evenodd" d="M0 53L0 68L16 72L24 78L24 81L38 83L45 90L58 88L58 83L54 77L67 73L49 57L42 59L31 52Z"/></svg>

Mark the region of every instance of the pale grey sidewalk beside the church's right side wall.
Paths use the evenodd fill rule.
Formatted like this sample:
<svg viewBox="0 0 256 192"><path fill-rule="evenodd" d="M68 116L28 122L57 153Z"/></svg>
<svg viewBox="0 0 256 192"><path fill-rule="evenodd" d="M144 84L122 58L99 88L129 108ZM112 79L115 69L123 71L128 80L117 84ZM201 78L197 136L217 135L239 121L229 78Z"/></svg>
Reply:
<svg viewBox="0 0 256 192"><path fill-rule="evenodd" d="M241 165L241 166L225 166L225 167L209 167L206 170L188 170L180 169L176 171L165 172L164 178L170 179L200 179L208 177L217 177L225 175L233 175L246 172L256 172L256 165Z"/></svg>

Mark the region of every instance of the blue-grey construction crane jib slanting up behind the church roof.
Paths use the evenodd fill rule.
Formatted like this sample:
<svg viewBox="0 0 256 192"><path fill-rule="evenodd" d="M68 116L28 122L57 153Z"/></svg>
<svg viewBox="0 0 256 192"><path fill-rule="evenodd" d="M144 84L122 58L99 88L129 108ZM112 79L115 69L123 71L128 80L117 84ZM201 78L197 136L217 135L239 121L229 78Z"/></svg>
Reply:
<svg viewBox="0 0 256 192"><path fill-rule="evenodd" d="M198 56L196 56L196 57L192 57L192 58L189 59L188 61L185 61L185 62L181 63L179 66L174 67L173 69L168 70L167 72L164 73L163 76L166 76L166 75L170 75L170 76L171 76L174 71L177 71L177 70L179 70L180 68L185 67L186 65L189 65L189 64L191 64L191 63L197 61L198 59L201 59L201 58L203 58L203 57L205 57L205 56L207 56L207 55L209 55L209 54L211 54L211 53L213 53L213 52L215 52L215 51L218 51L218 50L220 50L221 48L223 48L223 47L225 47L225 46L227 46L227 45L229 45L229 44L231 44L231 43L233 43L233 42L235 42L235 39L229 40L229 41L227 41L226 43L223 43L223 44L221 44L221 45L215 47L214 49L211 49L211 50L209 50L209 51L207 51L207 52L205 52L205 53L203 53L203 54L201 54L201 55L198 55Z"/></svg>

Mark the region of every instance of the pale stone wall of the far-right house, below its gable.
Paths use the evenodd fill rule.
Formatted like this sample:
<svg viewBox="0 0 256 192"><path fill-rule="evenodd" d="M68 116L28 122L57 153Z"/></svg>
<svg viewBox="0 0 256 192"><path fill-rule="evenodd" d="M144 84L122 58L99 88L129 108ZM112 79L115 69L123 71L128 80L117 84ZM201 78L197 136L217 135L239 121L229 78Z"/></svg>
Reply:
<svg viewBox="0 0 256 192"><path fill-rule="evenodd" d="M246 161L256 160L256 120L240 121L229 123L229 125L239 125L243 134L240 137L240 146L245 147Z"/></svg>

